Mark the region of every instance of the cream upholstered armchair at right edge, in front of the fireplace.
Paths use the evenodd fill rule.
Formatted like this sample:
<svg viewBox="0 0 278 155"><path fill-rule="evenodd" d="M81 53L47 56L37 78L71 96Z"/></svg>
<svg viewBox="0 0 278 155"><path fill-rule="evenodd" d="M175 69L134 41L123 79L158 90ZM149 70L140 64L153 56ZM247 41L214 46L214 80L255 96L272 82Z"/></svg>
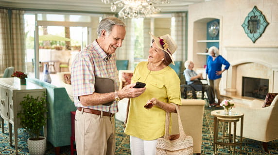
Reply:
<svg viewBox="0 0 278 155"><path fill-rule="evenodd" d="M236 107L233 110L244 113L243 137L263 142L263 148L267 152L267 142L278 139L278 95L269 107L264 108L262 108L263 100L236 99L234 101ZM240 124L238 123L236 127L236 134L239 136Z"/></svg>

